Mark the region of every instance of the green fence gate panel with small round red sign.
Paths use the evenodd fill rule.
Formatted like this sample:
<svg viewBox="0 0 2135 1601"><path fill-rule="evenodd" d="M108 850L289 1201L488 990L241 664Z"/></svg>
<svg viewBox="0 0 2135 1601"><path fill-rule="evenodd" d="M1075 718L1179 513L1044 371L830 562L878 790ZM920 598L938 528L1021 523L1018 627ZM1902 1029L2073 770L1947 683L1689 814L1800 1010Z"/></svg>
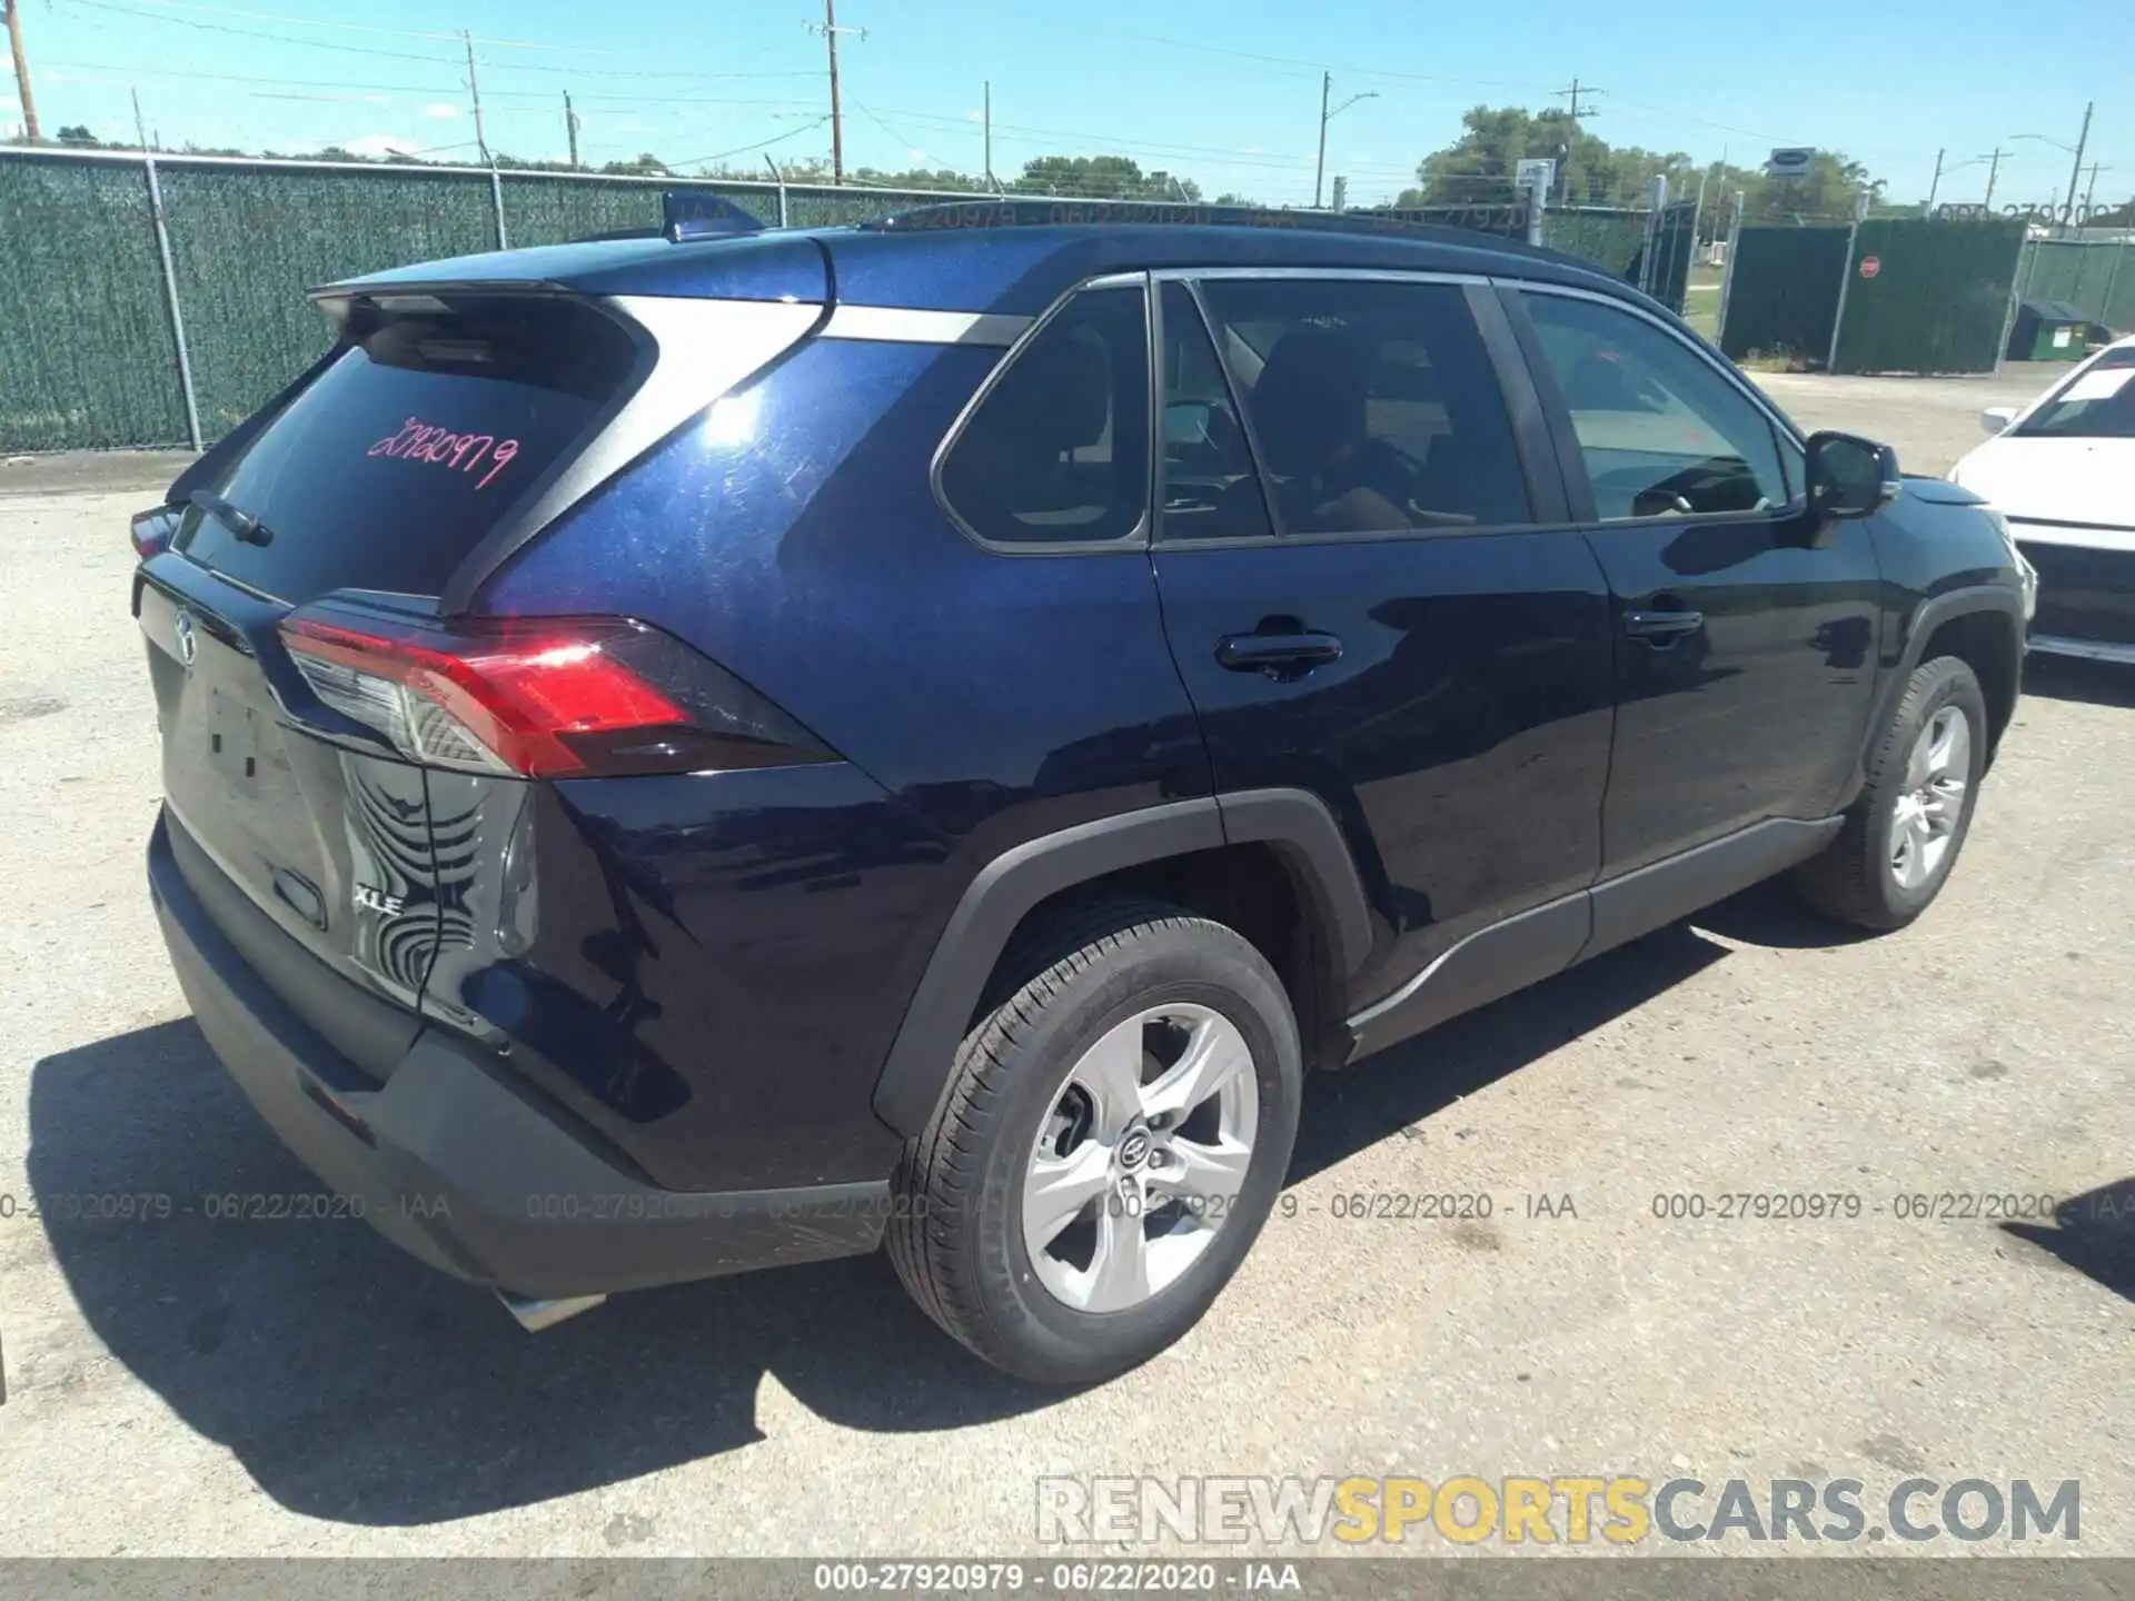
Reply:
<svg viewBox="0 0 2135 1601"><path fill-rule="evenodd" d="M2022 245L2022 222L1862 222L1832 371L1994 371Z"/></svg>

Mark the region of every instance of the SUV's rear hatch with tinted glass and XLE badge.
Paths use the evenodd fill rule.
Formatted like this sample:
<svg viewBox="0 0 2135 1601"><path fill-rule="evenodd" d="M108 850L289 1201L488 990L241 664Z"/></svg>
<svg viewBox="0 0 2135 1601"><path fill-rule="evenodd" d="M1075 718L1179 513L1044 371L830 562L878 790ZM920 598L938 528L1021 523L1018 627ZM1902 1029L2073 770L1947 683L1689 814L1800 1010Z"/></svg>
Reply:
<svg viewBox="0 0 2135 1601"><path fill-rule="evenodd" d="M179 871L299 1016L382 1078L468 850L440 826L416 702L346 651L303 653L292 628L436 630L453 572L600 435L653 346L568 295L378 299L352 303L339 350L265 427L179 480L190 500L135 604ZM427 736L453 739L436 719Z"/></svg>

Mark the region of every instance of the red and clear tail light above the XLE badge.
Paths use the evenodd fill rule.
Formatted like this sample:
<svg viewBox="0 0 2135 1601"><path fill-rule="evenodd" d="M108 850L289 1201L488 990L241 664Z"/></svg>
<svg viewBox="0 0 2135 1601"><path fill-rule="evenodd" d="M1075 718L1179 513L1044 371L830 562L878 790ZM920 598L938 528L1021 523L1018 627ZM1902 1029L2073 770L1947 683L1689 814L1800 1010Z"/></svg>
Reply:
<svg viewBox="0 0 2135 1601"><path fill-rule="evenodd" d="M626 617L446 630L299 613L282 643L327 707L425 766L549 779L833 760L732 672Z"/></svg>

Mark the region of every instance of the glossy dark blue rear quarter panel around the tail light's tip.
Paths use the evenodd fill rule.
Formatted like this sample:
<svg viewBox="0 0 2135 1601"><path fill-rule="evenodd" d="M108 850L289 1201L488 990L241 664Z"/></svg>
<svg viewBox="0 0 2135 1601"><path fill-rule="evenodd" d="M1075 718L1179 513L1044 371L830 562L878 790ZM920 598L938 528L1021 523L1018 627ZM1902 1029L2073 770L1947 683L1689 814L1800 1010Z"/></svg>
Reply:
<svg viewBox="0 0 2135 1601"><path fill-rule="evenodd" d="M1146 553L986 553L933 497L933 453L997 359L809 342L478 598L658 623L843 758L841 777L559 786L538 820L529 963L576 997L553 997L566 1012L608 1016L611 1044L628 1035L677 1076L634 1127L608 1108L664 1183L702 1178L696 1151L722 1153L732 1183L781 1134L794 1159L818 1153L811 1172L833 1163L984 862L1211 788ZM596 948L634 952L630 971ZM480 967L463 982L497 982Z"/></svg>

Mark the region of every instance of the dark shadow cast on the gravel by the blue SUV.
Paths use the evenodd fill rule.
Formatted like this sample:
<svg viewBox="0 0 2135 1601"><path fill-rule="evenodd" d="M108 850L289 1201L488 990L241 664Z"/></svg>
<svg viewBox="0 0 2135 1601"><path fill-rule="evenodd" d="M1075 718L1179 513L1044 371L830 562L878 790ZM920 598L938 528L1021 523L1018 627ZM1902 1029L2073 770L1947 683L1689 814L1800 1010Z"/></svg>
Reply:
<svg viewBox="0 0 2135 1601"><path fill-rule="evenodd" d="M1725 956L1678 924L1366 1067L1315 1080L1292 1180L1441 1110ZM412 1526L752 1445L758 1390L863 1430L1053 1405L939 1334L882 1255L621 1296L540 1336L361 1221L226 1221L318 1183L190 1018L47 1057L30 1185L96 1338L292 1511ZM70 1198L169 1198L66 1221ZM139 1206L139 1202L137 1202ZM94 1206L92 1206L94 1210Z"/></svg>

